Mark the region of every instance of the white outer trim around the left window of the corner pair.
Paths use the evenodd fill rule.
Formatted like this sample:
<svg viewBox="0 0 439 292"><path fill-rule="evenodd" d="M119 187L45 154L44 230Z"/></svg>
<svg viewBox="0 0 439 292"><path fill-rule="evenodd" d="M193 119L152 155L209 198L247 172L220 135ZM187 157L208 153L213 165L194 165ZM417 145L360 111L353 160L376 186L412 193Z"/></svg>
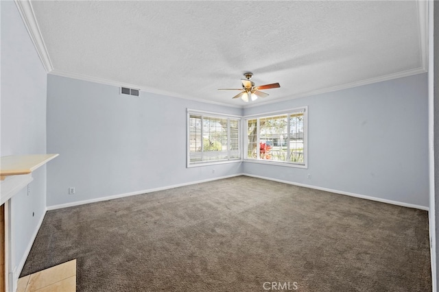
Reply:
<svg viewBox="0 0 439 292"><path fill-rule="evenodd" d="M207 166L207 165L222 165L224 163L236 163L236 162L242 162L243 161L243 151L242 151L242 139L243 139L243 135L242 135L242 130L240 132L238 132L238 147L239 147L239 152L240 152L240 156L239 158L235 158L235 159L228 159L228 160L216 160L216 161L205 161L205 162L196 162L191 164L191 157L190 157L190 133L189 133L189 119L191 114L196 114L196 115L200 115L202 117L212 117L212 118L219 118L219 119L227 119L227 118L233 118L233 119L237 119L239 120L240 123L240 128L242 129L242 117L235 115L235 114L222 114L219 112L208 112L208 111L204 111L204 110L193 110L191 108L187 108L187 119L186 119L186 154L187 154L187 158L186 158L186 167L187 168L191 168L191 167L203 167L203 166ZM230 122L229 122L230 123ZM230 141L230 138L228 139Z"/></svg>

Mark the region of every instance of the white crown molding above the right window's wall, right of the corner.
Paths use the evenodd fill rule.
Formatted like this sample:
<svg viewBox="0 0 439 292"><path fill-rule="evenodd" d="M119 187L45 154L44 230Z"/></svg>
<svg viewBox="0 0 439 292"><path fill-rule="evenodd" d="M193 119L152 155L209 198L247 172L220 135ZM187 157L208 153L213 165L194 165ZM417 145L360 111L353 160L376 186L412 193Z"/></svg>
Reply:
<svg viewBox="0 0 439 292"><path fill-rule="evenodd" d="M351 82L351 83L347 83L347 84L341 84L341 85L337 85L337 86L333 86L333 87L322 88L319 90L308 91L306 93L298 93L296 95L290 95L289 97L285 97L283 99L274 99L272 101L264 101L264 102L259 102L257 104L249 104L248 106L244 106L244 108L254 108L256 106L265 106L267 104L276 104L278 102L287 101L290 99L297 99L300 97L309 97L311 95L320 95L323 93L331 93L333 91L354 88L354 87L358 87L358 86L364 86L364 85L374 84L374 83L388 81L388 80L394 80L394 79L417 75L417 74L426 73L426 72L427 72L427 69L420 67L420 68L416 68L416 69L401 71L401 72L383 75L383 76L379 76L379 77L373 77L373 78L366 79L366 80L359 80L359 81Z"/></svg>

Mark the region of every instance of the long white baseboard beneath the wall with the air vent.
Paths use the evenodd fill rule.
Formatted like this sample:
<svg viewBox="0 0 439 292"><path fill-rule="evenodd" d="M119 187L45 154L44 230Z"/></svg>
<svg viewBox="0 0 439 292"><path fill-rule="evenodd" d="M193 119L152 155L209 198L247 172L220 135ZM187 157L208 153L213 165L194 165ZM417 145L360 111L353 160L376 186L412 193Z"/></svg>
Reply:
<svg viewBox="0 0 439 292"><path fill-rule="evenodd" d="M71 203L66 203L66 204L48 206L47 210L56 210L56 209L60 209L60 208L67 208L67 207L79 206L79 205L90 204L90 203L95 203L95 202L108 201L109 199L119 199L121 197L130 197L132 195L141 195L141 194L144 194L144 193L152 193L152 192L156 192L156 191L164 191L164 190L167 190L169 188L178 188L180 186L189 186L191 184L201 184L202 182L211 182L213 180L222 180L224 178L233 178L235 176L240 176L240 175L244 175L244 173L236 173L236 174L232 174L232 175L221 176L221 177L218 177L218 178L208 178L206 180L198 180L198 181L195 181L195 182L185 182L185 183L182 183L182 184L173 184L171 186L161 186L159 188L150 188L150 189L143 190L143 191L135 191L135 192L123 193L123 194L119 194L119 195L110 195L108 197L98 197L98 198L95 198L95 199L86 199L86 200L83 200L83 201L77 201L77 202L71 202Z"/></svg>

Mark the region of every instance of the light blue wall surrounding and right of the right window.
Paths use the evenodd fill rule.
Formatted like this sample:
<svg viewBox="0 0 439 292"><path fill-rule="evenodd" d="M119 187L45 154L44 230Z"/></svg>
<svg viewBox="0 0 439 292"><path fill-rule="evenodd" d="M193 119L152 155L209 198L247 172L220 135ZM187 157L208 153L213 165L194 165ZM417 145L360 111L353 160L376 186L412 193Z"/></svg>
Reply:
<svg viewBox="0 0 439 292"><path fill-rule="evenodd" d="M429 206L426 73L246 108L244 114L299 106L309 107L308 169L244 162L244 173Z"/></svg>

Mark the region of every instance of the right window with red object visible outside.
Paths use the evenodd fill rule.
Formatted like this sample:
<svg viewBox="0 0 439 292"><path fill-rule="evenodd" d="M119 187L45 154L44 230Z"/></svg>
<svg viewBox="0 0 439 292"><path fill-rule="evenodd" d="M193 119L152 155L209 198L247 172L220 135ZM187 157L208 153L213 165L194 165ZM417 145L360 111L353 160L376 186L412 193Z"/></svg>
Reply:
<svg viewBox="0 0 439 292"><path fill-rule="evenodd" d="M248 117L246 159L307 167L307 108Z"/></svg>

